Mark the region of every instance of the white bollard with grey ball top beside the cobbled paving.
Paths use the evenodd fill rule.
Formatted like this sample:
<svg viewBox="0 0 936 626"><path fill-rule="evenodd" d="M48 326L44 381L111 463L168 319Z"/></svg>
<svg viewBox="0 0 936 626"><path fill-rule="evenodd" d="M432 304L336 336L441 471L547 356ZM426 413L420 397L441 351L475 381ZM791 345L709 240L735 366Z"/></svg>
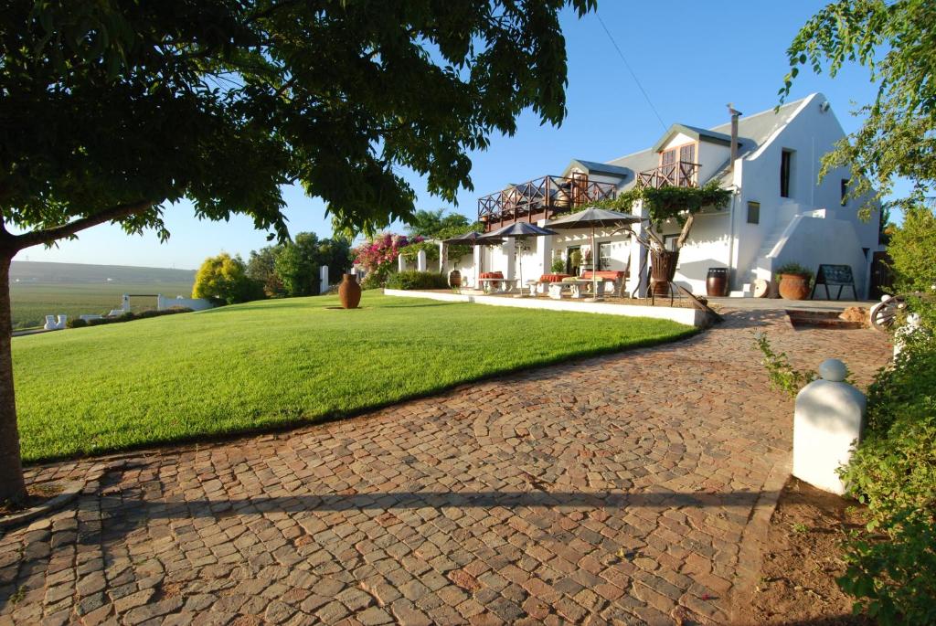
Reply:
<svg viewBox="0 0 936 626"><path fill-rule="evenodd" d="M848 368L837 358L819 366L819 380L799 390L793 416L793 475L839 495L836 473L851 459L852 444L865 426L865 395L845 383Z"/></svg>

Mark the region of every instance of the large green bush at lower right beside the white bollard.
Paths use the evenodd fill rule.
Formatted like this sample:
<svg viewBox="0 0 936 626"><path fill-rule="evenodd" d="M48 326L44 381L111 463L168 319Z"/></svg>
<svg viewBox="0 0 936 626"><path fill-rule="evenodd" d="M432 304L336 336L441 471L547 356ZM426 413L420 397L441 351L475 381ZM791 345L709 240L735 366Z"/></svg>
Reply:
<svg viewBox="0 0 936 626"><path fill-rule="evenodd" d="M845 545L841 588L880 623L932 623L936 342L925 333L908 338L893 365L878 371L868 392L865 438L840 473L870 512L867 531L853 533Z"/></svg>

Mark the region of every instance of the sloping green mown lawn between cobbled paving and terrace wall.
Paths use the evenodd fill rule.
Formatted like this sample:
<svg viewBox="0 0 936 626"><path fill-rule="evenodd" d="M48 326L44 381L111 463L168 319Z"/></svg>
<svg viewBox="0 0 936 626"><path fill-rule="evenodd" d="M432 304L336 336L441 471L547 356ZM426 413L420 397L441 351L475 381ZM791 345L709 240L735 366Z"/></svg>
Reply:
<svg viewBox="0 0 936 626"><path fill-rule="evenodd" d="M26 460L350 415L686 336L674 322L392 298L251 302L13 339Z"/></svg>

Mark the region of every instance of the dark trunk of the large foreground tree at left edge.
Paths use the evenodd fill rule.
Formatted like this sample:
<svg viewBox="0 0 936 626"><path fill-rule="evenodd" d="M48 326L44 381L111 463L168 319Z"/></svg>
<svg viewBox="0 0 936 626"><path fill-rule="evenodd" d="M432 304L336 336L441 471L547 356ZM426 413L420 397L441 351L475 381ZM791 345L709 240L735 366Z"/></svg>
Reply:
<svg viewBox="0 0 936 626"><path fill-rule="evenodd" d="M13 356L10 352L9 264L11 255L0 253L0 502L22 502L20 431L13 396Z"/></svg>

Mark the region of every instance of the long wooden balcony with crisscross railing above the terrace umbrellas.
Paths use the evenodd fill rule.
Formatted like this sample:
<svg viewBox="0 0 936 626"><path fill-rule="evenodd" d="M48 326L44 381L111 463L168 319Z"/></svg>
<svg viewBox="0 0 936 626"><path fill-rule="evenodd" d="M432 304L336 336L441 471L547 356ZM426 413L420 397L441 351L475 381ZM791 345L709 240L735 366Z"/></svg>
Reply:
<svg viewBox="0 0 936 626"><path fill-rule="evenodd" d="M485 232L515 222L548 220L596 200L614 197L613 182L589 181L585 176L543 176L477 198L477 220Z"/></svg>

